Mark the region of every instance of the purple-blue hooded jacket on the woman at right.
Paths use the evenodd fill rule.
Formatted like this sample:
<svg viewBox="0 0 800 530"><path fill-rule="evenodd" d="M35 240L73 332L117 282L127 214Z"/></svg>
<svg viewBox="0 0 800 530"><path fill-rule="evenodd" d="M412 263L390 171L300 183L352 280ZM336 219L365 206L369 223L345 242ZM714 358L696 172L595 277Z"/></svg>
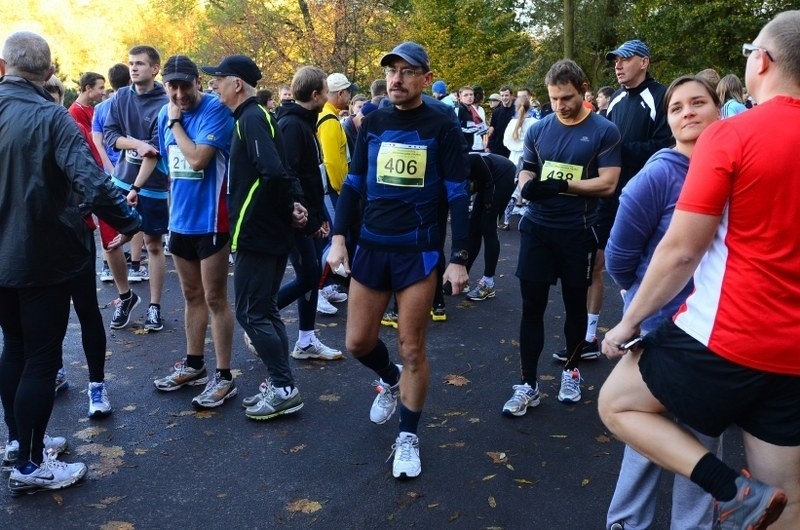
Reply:
<svg viewBox="0 0 800 530"><path fill-rule="evenodd" d="M653 252L669 227L688 171L686 156L674 149L662 149L622 190L605 257L606 270L627 290L623 296L625 309L639 290ZM672 317L692 286L690 280L658 313L642 322L642 331L653 331Z"/></svg>

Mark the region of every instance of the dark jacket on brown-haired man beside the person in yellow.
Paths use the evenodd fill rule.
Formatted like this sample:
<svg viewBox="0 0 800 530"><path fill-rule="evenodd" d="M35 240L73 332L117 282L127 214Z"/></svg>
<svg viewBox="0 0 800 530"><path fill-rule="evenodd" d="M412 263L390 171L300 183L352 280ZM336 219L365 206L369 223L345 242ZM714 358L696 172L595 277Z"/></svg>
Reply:
<svg viewBox="0 0 800 530"><path fill-rule="evenodd" d="M284 103L281 108L278 127L286 151L286 171L300 181L305 199L303 206L308 210L308 224L303 233L313 234L327 219L325 187L320 172L322 149L316 134L319 113L294 102Z"/></svg>

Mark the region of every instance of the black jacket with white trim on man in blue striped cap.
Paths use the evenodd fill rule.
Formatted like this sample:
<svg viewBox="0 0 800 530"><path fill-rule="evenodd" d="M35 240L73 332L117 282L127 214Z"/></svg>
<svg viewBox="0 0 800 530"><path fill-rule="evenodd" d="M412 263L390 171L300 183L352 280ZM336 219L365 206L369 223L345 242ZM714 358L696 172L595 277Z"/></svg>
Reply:
<svg viewBox="0 0 800 530"><path fill-rule="evenodd" d="M611 96L606 118L614 122L622 137L622 170L618 190L657 151L675 144L664 110L666 93L667 87L647 74L636 88L623 87Z"/></svg>

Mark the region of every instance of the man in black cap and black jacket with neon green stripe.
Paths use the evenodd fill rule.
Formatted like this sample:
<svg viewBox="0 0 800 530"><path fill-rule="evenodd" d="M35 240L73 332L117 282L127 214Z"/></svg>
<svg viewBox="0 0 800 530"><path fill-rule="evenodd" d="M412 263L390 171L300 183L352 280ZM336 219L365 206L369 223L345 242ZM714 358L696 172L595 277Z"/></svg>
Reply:
<svg viewBox="0 0 800 530"><path fill-rule="evenodd" d="M294 245L294 228L308 222L297 179L286 172L278 126L258 104L261 70L249 57L231 55L202 70L217 78L219 98L236 120L228 170L236 320L248 347L267 366L259 394L244 400L245 415L268 420L303 408L289 367L289 342L277 293Z"/></svg>

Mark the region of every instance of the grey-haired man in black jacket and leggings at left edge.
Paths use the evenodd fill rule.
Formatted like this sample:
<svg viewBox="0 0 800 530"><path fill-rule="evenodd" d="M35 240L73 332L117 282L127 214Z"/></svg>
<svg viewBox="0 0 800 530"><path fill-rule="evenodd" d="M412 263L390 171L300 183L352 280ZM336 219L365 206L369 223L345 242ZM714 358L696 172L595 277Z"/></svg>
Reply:
<svg viewBox="0 0 800 530"><path fill-rule="evenodd" d="M71 280L94 268L84 214L93 211L120 232L114 248L139 231L141 219L67 110L44 91L52 75L47 42L12 34L0 75L0 397L9 433L4 460L15 461L9 489L20 494L65 488L86 474L85 464L44 454Z"/></svg>

